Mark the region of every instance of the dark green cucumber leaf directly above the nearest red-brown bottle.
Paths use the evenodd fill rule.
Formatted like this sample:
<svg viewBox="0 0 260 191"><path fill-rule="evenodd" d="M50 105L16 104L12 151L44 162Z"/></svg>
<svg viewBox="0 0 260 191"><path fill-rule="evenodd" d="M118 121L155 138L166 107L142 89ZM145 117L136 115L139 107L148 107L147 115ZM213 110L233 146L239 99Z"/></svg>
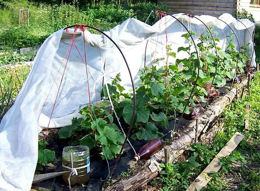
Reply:
<svg viewBox="0 0 260 191"><path fill-rule="evenodd" d="M146 123L145 128L139 128L138 132L134 134L139 140L152 140L161 137L163 134L158 132L158 128L151 122Z"/></svg>

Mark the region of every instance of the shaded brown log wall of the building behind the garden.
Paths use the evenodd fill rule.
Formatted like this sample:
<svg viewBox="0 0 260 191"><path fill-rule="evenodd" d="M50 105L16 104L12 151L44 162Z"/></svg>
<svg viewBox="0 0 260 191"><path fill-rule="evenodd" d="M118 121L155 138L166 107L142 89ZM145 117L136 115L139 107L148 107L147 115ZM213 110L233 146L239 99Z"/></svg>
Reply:
<svg viewBox="0 0 260 191"><path fill-rule="evenodd" d="M223 13L233 14L239 0L159 0L165 3L172 13L187 13L192 15L220 16ZM249 1L250 0L241 0Z"/></svg>

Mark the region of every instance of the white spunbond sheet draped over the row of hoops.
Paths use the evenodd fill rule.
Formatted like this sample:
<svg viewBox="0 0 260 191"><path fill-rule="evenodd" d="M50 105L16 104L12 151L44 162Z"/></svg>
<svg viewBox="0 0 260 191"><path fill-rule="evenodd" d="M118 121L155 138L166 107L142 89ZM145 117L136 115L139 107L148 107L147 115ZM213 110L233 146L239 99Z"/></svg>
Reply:
<svg viewBox="0 0 260 191"><path fill-rule="evenodd" d="M174 16L196 33L194 35L196 42L198 42L199 34L206 32L205 26L200 21L183 14ZM220 39L218 46L225 50L226 35L230 34L229 27L218 21L216 17L206 15L198 17L207 26L214 27L213 31L218 32L217 36ZM233 27L241 45L250 43L248 53L251 55L253 45L245 27L229 14L223 14L220 18ZM253 33L254 23L246 19L241 21ZM129 18L105 33L122 50L135 85L138 85L139 69L144 67L147 41L147 66L157 58L166 57L166 43L171 45L172 51L176 53L178 47L189 45L189 42L181 37L187 31L171 16L163 17L153 26ZM79 109L88 104L89 100L90 102L100 100L103 75L106 76L107 83L109 83L111 77L120 73L121 85L131 90L132 85L126 63L119 50L107 37L102 34L91 34L88 30L82 32L78 29L75 34L75 43L69 59L67 59L73 35L74 29L68 29L68 31L61 29L44 41L14 105L1 121L0 190L30 190L38 158L38 128L69 125L73 117L80 116ZM85 37L86 52L84 52L83 36ZM89 74L88 83L85 53ZM179 52L176 58L187 56L189 55ZM174 62L174 59L170 62ZM105 74L102 72L104 64ZM160 67L164 62L160 61L156 64ZM255 55L252 66L255 66ZM54 103L56 104L53 110ZM50 120L52 111L53 115Z"/></svg>

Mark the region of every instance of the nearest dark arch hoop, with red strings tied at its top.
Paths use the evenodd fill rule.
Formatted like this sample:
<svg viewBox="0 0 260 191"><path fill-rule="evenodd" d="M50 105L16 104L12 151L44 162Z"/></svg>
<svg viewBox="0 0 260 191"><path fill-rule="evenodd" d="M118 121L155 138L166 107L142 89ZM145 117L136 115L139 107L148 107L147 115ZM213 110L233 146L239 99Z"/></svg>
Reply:
<svg viewBox="0 0 260 191"><path fill-rule="evenodd" d="M134 85L134 80L133 80L133 77L132 77L132 74L131 74L129 65L128 65L127 61L126 61L126 58L125 58L123 52L121 51L121 49L119 48L119 46L115 43L115 41L114 41L112 38L110 38L106 33L104 33L103 31L101 31L100 29L95 28L95 27L92 27L92 26L89 26L89 25L72 25L72 26L68 26L68 27L64 28L64 30L66 30L67 28L72 28L72 27L76 27L76 26L77 26L77 27L80 27L80 26L81 26L81 27L87 27L87 28L94 29L94 30L96 30L96 31L98 31L98 32L100 32L100 33L102 33L103 35L105 35L109 40L111 40L112 43L117 47L117 49L118 49L119 52L121 53L121 55L122 55L122 57L123 57L123 59L124 59L124 61L125 61L125 63L126 63L126 66L127 66L127 69L128 69L129 75L130 75L130 78L131 78L131 82L132 82L134 104L133 104L133 114L132 114L131 125L130 125L130 127L129 127L129 129L128 129L128 132L127 132L127 134L126 134L126 138L125 138L125 141L124 141L124 143L123 143L123 145L122 145L122 148L121 148L121 150L120 150L120 152L119 152L119 155L118 155L118 157L116 158L116 162L115 162L114 168L113 168L113 170L112 170L112 172L111 172L111 176L112 176L112 175L113 175L113 172L114 172L114 170L115 170L115 167L116 167L116 165L117 165L117 163L118 163L118 161L119 161L119 159L120 159L120 156L121 156L121 153L122 153L122 151L123 151L123 149L124 149L124 146L125 146L125 144L126 144L126 141L127 141L127 139L129 138L129 136L130 136L130 132L131 132L131 130L132 130L132 126L133 126L133 124L134 124L135 108L136 108L136 98L135 98L135 85Z"/></svg>

